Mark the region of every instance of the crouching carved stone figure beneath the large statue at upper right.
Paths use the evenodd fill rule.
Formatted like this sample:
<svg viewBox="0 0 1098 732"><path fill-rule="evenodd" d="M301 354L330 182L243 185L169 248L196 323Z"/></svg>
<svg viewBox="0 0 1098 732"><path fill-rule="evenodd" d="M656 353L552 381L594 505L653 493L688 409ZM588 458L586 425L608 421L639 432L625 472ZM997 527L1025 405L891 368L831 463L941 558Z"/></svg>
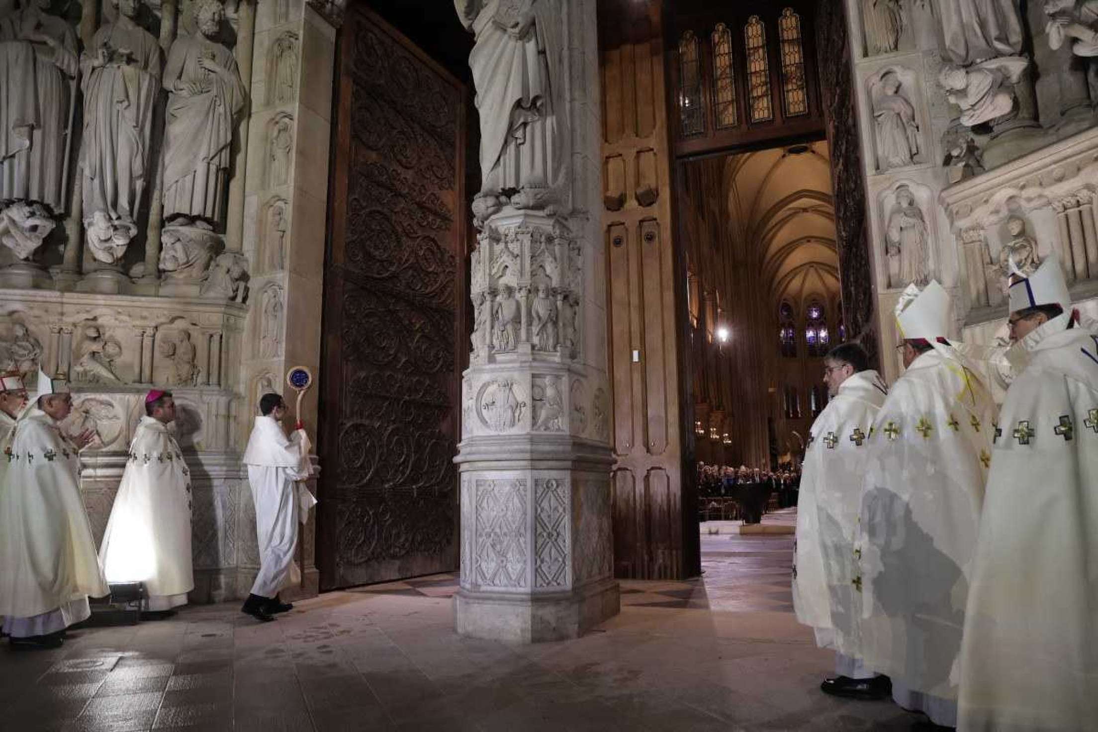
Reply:
<svg viewBox="0 0 1098 732"><path fill-rule="evenodd" d="M961 124L975 127L1016 115L1013 85L1029 61L1005 56L968 68L946 64L938 74L945 98L961 108Z"/></svg>

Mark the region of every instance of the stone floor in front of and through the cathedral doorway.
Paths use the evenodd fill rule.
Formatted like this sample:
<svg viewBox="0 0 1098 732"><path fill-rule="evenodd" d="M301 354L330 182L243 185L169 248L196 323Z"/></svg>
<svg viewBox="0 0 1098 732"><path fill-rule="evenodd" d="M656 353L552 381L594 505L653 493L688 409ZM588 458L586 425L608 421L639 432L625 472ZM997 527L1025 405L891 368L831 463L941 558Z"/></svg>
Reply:
<svg viewBox="0 0 1098 732"><path fill-rule="evenodd" d="M820 694L831 656L796 623L789 537L703 536L694 582L624 582L621 615L560 643L453 634L452 575L237 605L0 647L0 729L908 730L890 702Z"/></svg>

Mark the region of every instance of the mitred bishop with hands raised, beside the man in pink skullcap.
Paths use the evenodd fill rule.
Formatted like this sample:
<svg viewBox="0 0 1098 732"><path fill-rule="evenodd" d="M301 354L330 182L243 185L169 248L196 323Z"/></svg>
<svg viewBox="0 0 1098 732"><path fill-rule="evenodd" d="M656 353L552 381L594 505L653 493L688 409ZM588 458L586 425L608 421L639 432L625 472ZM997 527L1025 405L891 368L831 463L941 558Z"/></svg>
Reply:
<svg viewBox="0 0 1098 732"><path fill-rule="evenodd" d="M80 496L80 448L59 423L72 409L68 386L38 374L37 404L15 427L0 491L0 615L12 643L56 647L64 630L91 615L88 596L108 594Z"/></svg>

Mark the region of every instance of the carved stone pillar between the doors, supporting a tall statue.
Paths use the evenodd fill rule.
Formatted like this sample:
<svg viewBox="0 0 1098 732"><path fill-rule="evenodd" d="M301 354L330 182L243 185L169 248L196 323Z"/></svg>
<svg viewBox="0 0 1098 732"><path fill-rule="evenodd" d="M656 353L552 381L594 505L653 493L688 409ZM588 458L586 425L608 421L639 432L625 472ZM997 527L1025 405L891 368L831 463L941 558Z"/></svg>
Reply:
<svg viewBox="0 0 1098 732"><path fill-rule="evenodd" d="M477 3L468 5L463 22L483 27L488 19L474 21ZM481 222L471 262L477 329L462 380L461 589L455 604L459 633L526 642L574 638L619 609L604 251L593 216L600 205L595 2L537 0L534 8L536 23L554 23L526 37L536 43L536 32L549 38L554 132L548 133L547 167L562 169L562 182L547 205L539 200L545 189L527 185L534 179L516 166L518 184L530 190L473 205ZM479 45L470 63L488 104L498 91L490 85L505 81L512 69L478 68L478 59L490 55L484 52ZM491 123L481 120L482 131ZM540 129L527 127L530 147L518 156L533 149ZM535 157L533 165L540 161ZM491 180L489 170L482 173ZM498 189L509 185L505 180Z"/></svg>

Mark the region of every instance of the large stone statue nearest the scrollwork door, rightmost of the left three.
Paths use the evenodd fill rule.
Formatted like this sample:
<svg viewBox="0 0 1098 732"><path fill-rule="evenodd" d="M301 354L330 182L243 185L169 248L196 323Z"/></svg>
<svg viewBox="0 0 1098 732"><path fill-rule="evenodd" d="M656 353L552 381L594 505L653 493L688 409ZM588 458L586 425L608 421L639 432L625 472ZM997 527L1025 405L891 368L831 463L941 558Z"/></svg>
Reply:
<svg viewBox="0 0 1098 732"><path fill-rule="evenodd" d="M233 54L214 41L224 15L217 0L197 0L199 33L180 35L168 53L165 221L190 216L216 223L224 217L235 116L246 99Z"/></svg>

